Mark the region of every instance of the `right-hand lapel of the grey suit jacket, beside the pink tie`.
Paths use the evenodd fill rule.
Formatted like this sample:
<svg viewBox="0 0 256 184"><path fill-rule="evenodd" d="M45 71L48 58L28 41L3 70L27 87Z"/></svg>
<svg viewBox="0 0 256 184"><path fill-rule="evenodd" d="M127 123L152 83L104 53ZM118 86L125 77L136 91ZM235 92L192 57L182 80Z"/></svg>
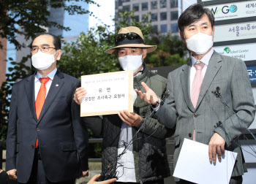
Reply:
<svg viewBox="0 0 256 184"><path fill-rule="evenodd" d="M214 77L222 66L221 61L222 60L220 58L220 55L214 51L207 66L205 77L203 78L203 84L198 97L197 107L200 105L203 97L206 95L206 92L211 85L211 82L214 80ZM195 109L197 109L197 107Z"/></svg>

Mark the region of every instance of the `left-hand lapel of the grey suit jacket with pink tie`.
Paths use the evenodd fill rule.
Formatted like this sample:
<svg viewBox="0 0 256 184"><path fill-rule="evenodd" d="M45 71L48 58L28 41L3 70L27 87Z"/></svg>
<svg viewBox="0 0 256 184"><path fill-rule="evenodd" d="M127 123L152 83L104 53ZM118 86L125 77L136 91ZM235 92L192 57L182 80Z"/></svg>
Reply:
<svg viewBox="0 0 256 184"><path fill-rule="evenodd" d="M194 112L195 108L190 100L190 93L189 93L189 79L190 79L190 66L191 61L189 61L186 65L183 66L182 72L181 72L181 88L184 93L184 99L187 104L187 107Z"/></svg>

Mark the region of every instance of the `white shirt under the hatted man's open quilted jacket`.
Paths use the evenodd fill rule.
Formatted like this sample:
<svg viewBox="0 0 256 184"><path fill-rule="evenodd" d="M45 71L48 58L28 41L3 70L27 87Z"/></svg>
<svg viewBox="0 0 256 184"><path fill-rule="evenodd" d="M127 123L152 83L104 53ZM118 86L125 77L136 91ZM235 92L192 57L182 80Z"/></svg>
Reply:
<svg viewBox="0 0 256 184"><path fill-rule="evenodd" d="M140 70L143 71L143 68ZM140 75L141 72L135 74L135 76ZM134 76L134 77L135 77ZM137 93L135 89L133 89L133 103L137 99ZM129 143L132 140L132 126L128 126L127 123L121 123L121 133L119 137L119 147L118 147L118 155L124 151L124 142ZM136 141L136 140L135 140ZM127 152L120 158L117 162L117 176L118 182L134 182L136 183L136 176L135 176L135 162L134 156L132 153L133 146L130 145Z"/></svg>

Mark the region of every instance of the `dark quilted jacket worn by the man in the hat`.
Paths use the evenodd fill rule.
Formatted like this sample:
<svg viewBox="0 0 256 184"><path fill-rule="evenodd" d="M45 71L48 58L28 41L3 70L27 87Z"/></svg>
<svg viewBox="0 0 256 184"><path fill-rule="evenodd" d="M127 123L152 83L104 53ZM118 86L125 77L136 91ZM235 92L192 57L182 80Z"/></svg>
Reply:
<svg viewBox="0 0 256 184"><path fill-rule="evenodd" d="M146 64L143 64L143 67L142 74L134 77L134 88L145 92L141 85L141 82L145 82L161 98L166 91L167 80L149 72ZM142 118L142 122L138 127L132 127L132 134L134 135L150 114L151 107L138 97L133 108L134 112ZM94 134L103 134L102 172L109 165L113 165L113 168L116 169L121 119L118 115L104 115L103 122L99 117L87 117L83 118L83 120L88 128L94 131ZM155 118L149 118L146 126L138 133L135 142L133 142L137 182L160 180L170 176L165 137L170 137L170 129L160 124Z"/></svg>

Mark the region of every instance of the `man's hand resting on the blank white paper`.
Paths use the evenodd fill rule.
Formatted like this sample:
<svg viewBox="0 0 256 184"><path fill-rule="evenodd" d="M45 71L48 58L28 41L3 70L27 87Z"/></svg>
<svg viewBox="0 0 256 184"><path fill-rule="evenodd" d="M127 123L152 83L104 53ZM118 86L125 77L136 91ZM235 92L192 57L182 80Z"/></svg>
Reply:
<svg viewBox="0 0 256 184"><path fill-rule="evenodd" d="M218 155L219 161L222 160L222 154L225 154L225 140L217 133L215 133L209 143L209 159L216 163L216 154Z"/></svg>

